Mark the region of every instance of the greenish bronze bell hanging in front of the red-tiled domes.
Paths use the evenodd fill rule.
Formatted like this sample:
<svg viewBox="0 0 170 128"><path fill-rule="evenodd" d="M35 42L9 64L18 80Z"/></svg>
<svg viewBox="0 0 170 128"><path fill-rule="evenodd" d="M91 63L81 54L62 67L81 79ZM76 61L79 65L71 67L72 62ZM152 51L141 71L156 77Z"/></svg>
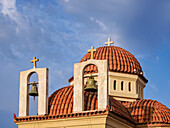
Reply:
<svg viewBox="0 0 170 128"><path fill-rule="evenodd" d="M97 88L95 86L95 82L96 81L94 80L94 77L90 76L89 79L87 80L87 86L84 90L87 92L96 92Z"/></svg>

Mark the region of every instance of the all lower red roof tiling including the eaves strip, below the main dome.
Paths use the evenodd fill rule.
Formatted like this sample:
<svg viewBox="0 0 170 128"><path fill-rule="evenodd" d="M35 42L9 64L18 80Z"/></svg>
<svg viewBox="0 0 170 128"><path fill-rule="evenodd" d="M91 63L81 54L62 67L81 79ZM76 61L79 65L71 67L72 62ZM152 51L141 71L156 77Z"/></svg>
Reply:
<svg viewBox="0 0 170 128"><path fill-rule="evenodd" d="M170 109L156 100L142 99L134 102L117 101L109 96L106 110L98 111L97 92L84 92L84 108L87 111L73 113L73 86L56 90L49 97L49 113L42 116L16 117L14 122L74 118L80 116L103 115L113 113L116 117L136 125L147 127L170 126Z"/></svg>

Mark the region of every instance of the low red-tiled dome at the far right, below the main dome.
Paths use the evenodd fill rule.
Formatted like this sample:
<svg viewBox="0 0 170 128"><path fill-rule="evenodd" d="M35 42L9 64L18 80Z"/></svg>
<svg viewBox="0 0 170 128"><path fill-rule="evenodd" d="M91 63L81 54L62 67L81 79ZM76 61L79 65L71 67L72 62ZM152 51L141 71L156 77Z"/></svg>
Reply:
<svg viewBox="0 0 170 128"><path fill-rule="evenodd" d="M156 100L122 102L137 124L170 124L170 109Z"/></svg>

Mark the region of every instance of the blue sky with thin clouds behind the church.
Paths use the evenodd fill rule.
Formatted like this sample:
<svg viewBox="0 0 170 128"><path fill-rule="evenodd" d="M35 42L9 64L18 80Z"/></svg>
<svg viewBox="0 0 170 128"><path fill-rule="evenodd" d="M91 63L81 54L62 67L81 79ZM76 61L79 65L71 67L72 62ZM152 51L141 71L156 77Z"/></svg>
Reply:
<svg viewBox="0 0 170 128"><path fill-rule="evenodd" d="M149 80L144 97L170 108L169 13L168 0L0 0L1 126L16 127L19 73L32 68L32 57L49 68L51 94L108 37L141 63Z"/></svg>

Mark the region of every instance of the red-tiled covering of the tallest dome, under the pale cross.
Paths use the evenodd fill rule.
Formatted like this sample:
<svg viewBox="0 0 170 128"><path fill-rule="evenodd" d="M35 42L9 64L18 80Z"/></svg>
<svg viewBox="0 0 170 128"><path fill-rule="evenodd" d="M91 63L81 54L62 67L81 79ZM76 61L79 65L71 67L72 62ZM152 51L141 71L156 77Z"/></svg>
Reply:
<svg viewBox="0 0 170 128"><path fill-rule="evenodd" d="M91 53L87 53L80 62L89 60L91 57ZM148 81L143 76L143 71L140 66L138 60L128 51L116 46L103 46L96 48L96 52L94 52L94 59L96 60L105 60L107 59L109 62L109 71L113 72L123 72L130 74L137 74L146 82ZM89 65L85 69L85 73L96 73L98 72L97 67L95 65ZM71 77L68 81L71 82L73 77Z"/></svg>

